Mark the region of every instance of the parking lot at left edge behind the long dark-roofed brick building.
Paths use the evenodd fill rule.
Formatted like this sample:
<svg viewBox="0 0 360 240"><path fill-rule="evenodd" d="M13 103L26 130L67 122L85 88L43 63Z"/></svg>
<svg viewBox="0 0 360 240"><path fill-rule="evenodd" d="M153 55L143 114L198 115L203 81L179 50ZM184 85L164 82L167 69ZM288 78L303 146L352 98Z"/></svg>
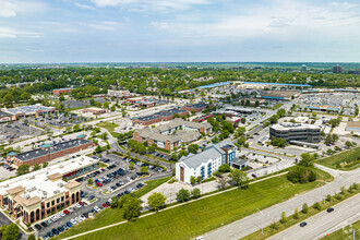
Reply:
<svg viewBox="0 0 360 240"><path fill-rule="evenodd" d="M43 133L45 133L44 130L24 123L23 121L0 124L0 141L4 144L31 139Z"/></svg>

